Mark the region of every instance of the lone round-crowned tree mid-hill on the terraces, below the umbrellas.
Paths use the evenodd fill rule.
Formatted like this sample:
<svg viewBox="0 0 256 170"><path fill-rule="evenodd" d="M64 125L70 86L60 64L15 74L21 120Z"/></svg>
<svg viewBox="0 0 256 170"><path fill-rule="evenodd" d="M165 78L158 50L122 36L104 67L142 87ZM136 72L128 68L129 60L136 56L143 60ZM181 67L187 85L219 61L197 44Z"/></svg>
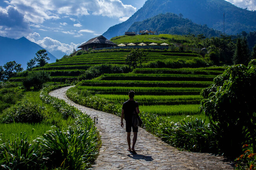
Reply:
<svg viewBox="0 0 256 170"><path fill-rule="evenodd" d="M136 68L137 64L142 64L144 61L148 61L148 53L144 52L143 49L132 49L132 51L126 55L126 62L128 65Z"/></svg>

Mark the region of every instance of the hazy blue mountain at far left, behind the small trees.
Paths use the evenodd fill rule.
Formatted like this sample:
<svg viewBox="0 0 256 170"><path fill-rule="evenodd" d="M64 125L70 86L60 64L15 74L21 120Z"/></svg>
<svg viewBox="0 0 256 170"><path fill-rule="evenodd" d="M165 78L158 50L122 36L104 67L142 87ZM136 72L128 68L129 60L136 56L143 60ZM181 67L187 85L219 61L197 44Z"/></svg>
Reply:
<svg viewBox="0 0 256 170"><path fill-rule="evenodd" d="M6 64L6 62L15 60L16 63L21 64L21 67L26 69L27 62L35 57L35 53L44 49L38 44L31 42L25 37L21 37L17 40L0 36L0 66ZM56 62L56 57L51 53L48 53L48 63Z"/></svg>

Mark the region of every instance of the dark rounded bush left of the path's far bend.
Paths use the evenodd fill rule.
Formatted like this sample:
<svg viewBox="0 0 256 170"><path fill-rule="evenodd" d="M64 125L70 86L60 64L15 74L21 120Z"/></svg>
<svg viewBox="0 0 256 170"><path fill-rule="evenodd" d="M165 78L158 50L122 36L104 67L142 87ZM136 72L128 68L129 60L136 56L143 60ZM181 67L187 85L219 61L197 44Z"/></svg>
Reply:
<svg viewBox="0 0 256 170"><path fill-rule="evenodd" d="M43 84L50 79L50 73L47 71L33 71L28 73L28 76L23 80L23 86L27 90L31 87L34 87L34 89L41 89Z"/></svg>

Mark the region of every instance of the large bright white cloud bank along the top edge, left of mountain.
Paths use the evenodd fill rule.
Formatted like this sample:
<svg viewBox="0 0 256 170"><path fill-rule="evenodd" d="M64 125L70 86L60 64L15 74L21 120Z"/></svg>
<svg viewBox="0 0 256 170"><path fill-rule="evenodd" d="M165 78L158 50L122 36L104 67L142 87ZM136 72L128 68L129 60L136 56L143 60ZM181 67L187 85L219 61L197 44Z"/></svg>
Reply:
<svg viewBox="0 0 256 170"><path fill-rule="evenodd" d="M43 23L49 19L59 19L60 15L83 16L102 15L108 17L128 17L136 8L124 5L121 0L8 0L24 17L33 23ZM74 18L70 20L75 21Z"/></svg>

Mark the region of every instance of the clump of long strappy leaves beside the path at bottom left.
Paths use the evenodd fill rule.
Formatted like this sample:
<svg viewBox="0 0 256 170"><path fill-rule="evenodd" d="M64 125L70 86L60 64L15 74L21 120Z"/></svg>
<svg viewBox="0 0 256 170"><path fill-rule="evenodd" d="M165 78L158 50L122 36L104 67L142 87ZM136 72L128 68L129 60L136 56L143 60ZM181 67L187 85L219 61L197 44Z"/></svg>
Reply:
<svg viewBox="0 0 256 170"><path fill-rule="evenodd" d="M91 121L92 125L92 121ZM93 125L92 125L93 126ZM42 154L47 157L47 167L63 167L68 170L84 170L95 159L98 133L95 126L89 129L69 128L49 131L37 139Z"/></svg>

